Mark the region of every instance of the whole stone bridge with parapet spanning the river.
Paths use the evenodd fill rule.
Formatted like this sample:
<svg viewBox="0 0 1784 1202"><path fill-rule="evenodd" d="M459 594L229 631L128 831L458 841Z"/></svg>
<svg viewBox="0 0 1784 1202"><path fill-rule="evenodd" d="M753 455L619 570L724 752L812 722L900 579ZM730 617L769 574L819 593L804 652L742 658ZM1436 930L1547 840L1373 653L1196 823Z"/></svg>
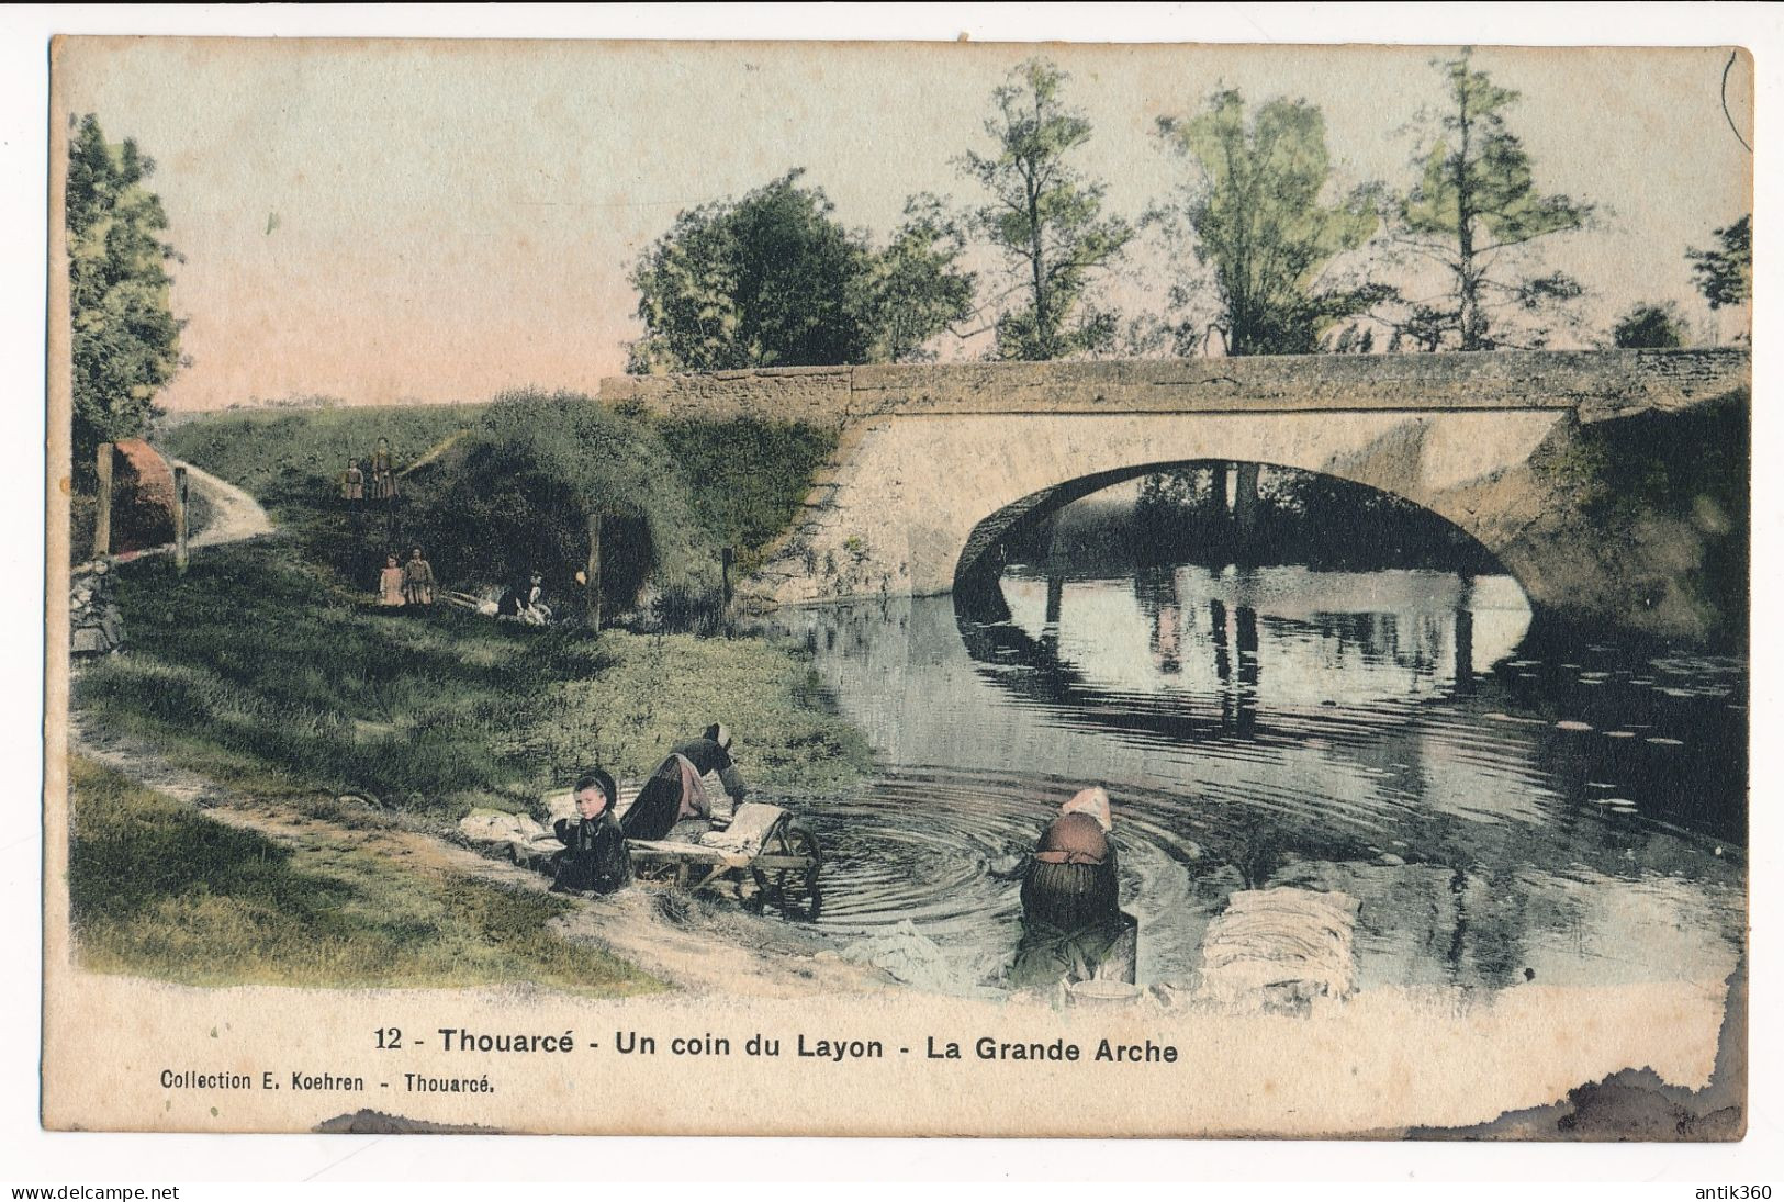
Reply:
<svg viewBox="0 0 1784 1202"><path fill-rule="evenodd" d="M1691 633L1673 596L1689 555L1595 547L1570 521L1582 487L1566 449L1593 423L1736 394L1748 371L1745 350L897 364L621 376L599 399L838 430L749 581L780 605L967 587L1019 523L1213 460L1397 494L1477 539L1538 610Z"/></svg>

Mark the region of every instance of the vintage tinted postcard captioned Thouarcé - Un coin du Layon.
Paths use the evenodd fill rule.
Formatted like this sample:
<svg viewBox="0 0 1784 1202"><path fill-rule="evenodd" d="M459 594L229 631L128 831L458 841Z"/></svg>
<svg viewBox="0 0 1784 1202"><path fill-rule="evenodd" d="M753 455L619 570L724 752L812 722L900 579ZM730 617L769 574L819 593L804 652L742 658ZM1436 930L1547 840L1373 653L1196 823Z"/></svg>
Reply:
<svg viewBox="0 0 1784 1202"><path fill-rule="evenodd" d="M1743 1138L1752 95L57 39L43 1124Z"/></svg>

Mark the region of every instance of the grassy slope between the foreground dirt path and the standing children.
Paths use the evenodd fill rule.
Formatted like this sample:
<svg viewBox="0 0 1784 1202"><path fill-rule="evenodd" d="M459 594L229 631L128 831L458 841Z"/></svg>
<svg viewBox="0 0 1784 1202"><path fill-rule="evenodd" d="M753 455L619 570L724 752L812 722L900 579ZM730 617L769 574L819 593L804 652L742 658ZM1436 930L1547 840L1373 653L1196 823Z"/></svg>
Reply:
<svg viewBox="0 0 1784 1202"><path fill-rule="evenodd" d="M280 540L209 549L184 578L128 564L118 599L132 649L91 665L77 704L262 794L366 792L457 819L594 762L639 776L721 719L771 790L837 786L871 762L806 665L760 640L392 613Z"/></svg>

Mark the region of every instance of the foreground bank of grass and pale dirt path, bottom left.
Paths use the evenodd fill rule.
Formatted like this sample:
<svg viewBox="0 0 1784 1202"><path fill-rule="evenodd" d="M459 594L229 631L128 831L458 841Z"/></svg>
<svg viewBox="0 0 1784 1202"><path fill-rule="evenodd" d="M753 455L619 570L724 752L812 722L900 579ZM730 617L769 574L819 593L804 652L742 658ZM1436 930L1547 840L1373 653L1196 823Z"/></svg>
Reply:
<svg viewBox="0 0 1784 1202"><path fill-rule="evenodd" d="M872 968L772 947L730 906L651 890L564 897L549 879L357 799L275 801L150 744L71 726L77 963L207 984L519 986L583 997L888 988Z"/></svg>

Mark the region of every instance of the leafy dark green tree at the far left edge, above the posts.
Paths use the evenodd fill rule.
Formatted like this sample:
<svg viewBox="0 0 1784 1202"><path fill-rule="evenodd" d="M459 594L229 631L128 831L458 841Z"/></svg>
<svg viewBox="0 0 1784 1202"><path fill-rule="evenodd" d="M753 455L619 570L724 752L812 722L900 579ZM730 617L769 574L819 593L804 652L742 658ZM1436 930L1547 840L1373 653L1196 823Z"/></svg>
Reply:
<svg viewBox="0 0 1784 1202"><path fill-rule="evenodd" d="M141 435L155 392L180 369L173 316L178 260L161 239L168 214L143 187L155 162L136 141L105 141L93 114L68 146L68 307L73 360L73 453L82 478L100 442Z"/></svg>

